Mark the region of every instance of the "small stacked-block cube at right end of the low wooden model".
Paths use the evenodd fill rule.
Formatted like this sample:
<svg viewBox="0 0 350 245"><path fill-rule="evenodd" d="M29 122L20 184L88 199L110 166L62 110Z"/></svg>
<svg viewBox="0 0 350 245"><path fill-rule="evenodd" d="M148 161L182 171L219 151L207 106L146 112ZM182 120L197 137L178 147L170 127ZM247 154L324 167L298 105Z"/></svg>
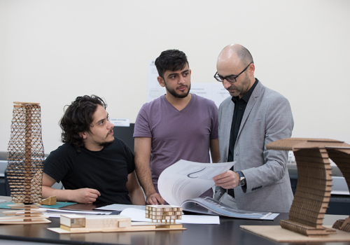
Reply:
<svg viewBox="0 0 350 245"><path fill-rule="evenodd" d="M152 222L175 223L175 220L182 218L182 208L172 205L147 205L146 218L151 218Z"/></svg>

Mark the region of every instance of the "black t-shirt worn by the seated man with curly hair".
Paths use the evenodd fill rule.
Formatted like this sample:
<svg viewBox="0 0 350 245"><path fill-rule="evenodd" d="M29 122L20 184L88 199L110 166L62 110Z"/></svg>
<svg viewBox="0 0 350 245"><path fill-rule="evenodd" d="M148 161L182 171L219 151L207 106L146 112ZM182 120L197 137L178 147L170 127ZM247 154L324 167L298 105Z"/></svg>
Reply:
<svg viewBox="0 0 350 245"><path fill-rule="evenodd" d="M43 172L66 190L92 188L101 193L94 204L132 204L126 188L127 175L135 169L134 155L120 139L101 151L63 144L44 162Z"/></svg>

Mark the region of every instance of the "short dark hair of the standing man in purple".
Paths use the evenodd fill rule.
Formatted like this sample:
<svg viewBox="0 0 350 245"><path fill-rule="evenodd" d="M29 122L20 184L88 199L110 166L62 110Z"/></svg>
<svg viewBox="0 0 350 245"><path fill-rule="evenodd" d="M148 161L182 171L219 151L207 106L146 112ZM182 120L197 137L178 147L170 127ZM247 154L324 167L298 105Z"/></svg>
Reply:
<svg viewBox="0 0 350 245"><path fill-rule="evenodd" d="M188 64L184 52L176 49L165 50L155 59L158 75L164 78L165 71L178 71Z"/></svg>

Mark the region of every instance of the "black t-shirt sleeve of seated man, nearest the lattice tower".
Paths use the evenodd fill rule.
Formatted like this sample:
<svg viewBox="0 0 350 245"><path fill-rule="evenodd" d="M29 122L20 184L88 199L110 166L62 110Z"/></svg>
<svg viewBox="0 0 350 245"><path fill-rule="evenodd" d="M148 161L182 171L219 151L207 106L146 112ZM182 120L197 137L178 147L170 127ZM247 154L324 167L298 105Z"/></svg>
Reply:
<svg viewBox="0 0 350 245"><path fill-rule="evenodd" d="M57 150L52 151L48 158L44 161L43 172L48 174L57 183L62 181L67 172L69 172L68 155L66 155L66 147L59 146Z"/></svg>

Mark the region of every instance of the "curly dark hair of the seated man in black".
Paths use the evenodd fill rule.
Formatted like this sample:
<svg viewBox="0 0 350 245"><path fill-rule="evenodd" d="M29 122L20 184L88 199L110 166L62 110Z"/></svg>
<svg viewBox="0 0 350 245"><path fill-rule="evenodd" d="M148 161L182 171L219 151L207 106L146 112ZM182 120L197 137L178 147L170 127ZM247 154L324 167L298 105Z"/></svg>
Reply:
<svg viewBox="0 0 350 245"><path fill-rule="evenodd" d="M64 115L59 121L59 126L62 129L61 140L63 143L68 143L76 151L80 152L80 147L84 146L83 138L80 137L80 132L90 132L90 125L94 120L94 112L97 110L97 105L101 105L106 109L107 104L96 95L84 95L76 97L76 100L71 103L64 111Z"/></svg>

